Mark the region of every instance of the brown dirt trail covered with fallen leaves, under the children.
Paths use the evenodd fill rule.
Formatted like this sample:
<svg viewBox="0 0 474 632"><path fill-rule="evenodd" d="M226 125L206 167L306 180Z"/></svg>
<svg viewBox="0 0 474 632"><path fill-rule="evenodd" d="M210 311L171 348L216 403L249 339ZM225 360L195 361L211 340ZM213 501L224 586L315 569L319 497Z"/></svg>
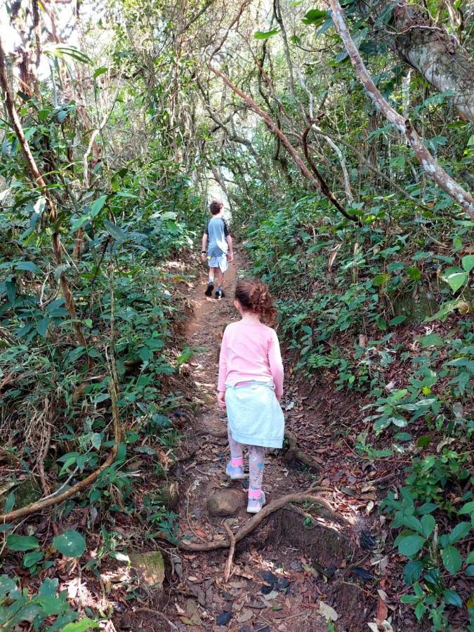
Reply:
<svg viewBox="0 0 474 632"><path fill-rule="evenodd" d="M241 264L237 254L226 276L227 296L222 301L204 296L204 271L202 284L190 296L195 317L188 329L188 340L199 348L190 364L201 408L195 427L187 435L187 448L197 452L178 472L177 511L179 537L196 543L225 539L224 520L236 532L251 518L246 513L242 481L232 482L225 475L229 458L227 429L225 414L216 405L220 336L223 327L238 317L232 296ZM299 408L292 397L291 392L287 393L283 406L291 411L286 414L287 427L297 430L298 420L304 415L296 414ZM324 463L324 459L320 462ZM301 463L285 463L282 451L267 452L263 489L268 501L291 492L303 492L320 478L319 473L301 467ZM222 492L225 501L231 499L237 505L237 511L228 517L210 515L209 499L211 503L222 504L219 498ZM330 496L328 499L332 501ZM171 587L168 616L183 631L327 631L327 619L320 612L325 604L334 603L336 607L335 601L342 600L348 602L349 611L356 604L360 608L361 593L345 591L341 570L353 561L350 536L354 522L336 524L314 506L279 510L237 544L228 582L224 581L228 549L207 553L177 551L173 576L176 583ZM272 584L277 579L279 584ZM221 621L226 622L218 625ZM337 627L338 631L361 628L339 623Z"/></svg>

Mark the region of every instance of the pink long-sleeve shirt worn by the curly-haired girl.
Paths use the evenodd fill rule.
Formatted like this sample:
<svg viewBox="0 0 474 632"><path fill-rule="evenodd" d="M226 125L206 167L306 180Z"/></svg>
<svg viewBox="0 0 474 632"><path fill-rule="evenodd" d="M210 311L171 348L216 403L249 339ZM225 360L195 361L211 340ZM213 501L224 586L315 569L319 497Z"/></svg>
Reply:
<svg viewBox="0 0 474 632"><path fill-rule="evenodd" d="M218 390L239 382L273 382L283 395L283 363L277 334L262 323L232 322L225 328L219 356Z"/></svg>

